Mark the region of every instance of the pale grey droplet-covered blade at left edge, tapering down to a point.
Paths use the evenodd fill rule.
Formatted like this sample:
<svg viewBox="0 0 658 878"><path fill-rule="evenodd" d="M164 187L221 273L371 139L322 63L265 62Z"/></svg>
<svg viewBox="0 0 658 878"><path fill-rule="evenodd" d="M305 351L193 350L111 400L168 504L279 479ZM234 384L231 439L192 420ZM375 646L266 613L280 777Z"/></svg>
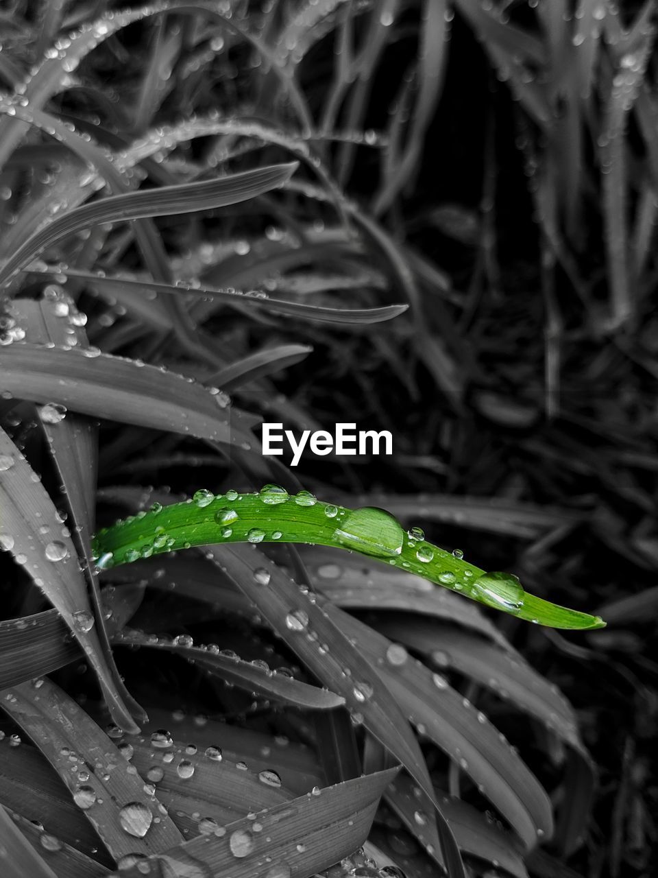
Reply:
<svg viewBox="0 0 658 878"><path fill-rule="evenodd" d="M111 670L94 628L87 584L77 551L53 500L9 435L0 428L0 508L3 546L32 577L35 585L63 617L82 646L116 723L137 730L114 686Z"/></svg>

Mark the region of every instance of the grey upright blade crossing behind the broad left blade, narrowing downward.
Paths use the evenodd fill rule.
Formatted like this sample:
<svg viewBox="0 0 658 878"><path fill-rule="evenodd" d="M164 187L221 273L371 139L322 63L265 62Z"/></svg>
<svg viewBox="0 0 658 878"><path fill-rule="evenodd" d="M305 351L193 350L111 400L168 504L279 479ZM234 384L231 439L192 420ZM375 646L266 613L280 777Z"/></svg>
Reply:
<svg viewBox="0 0 658 878"><path fill-rule="evenodd" d="M57 287L51 287L48 292L52 298L40 302L29 299L14 301L12 312L25 327L26 341L64 346L75 340L78 348L89 349L82 325L86 316L77 311L73 299L60 295ZM91 558L91 536L96 518L97 428L82 415L61 417L61 414L64 413L53 407L43 407L39 410L39 420L67 499L74 524L73 539L85 560L83 571L89 582L98 640L116 692L132 715L144 720L144 711L128 693L114 664Z"/></svg>

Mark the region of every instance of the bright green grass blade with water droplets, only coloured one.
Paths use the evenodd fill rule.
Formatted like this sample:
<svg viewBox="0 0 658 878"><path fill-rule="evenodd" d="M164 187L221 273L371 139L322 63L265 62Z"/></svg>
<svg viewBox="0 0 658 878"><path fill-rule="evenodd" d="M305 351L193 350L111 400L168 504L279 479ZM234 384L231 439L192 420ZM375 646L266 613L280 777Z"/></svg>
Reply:
<svg viewBox="0 0 658 878"><path fill-rule="evenodd" d="M420 531L405 534L399 522L383 509L337 507L318 502L305 491L290 497L276 486L265 486L258 494L239 495L231 491L213 496L204 492L199 499L200 502L187 500L157 513L147 513L138 521L120 522L100 531L94 549L96 557L104 556L106 566L137 560L147 540L151 541L148 549L153 554L212 545L218 539L223 544L318 543L379 558L404 572L526 621L580 630L604 625L598 616L527 594L510 573L485 572L460 555L427 543ZM153 543L157 533L168 535L162 547Z"/></svg>

